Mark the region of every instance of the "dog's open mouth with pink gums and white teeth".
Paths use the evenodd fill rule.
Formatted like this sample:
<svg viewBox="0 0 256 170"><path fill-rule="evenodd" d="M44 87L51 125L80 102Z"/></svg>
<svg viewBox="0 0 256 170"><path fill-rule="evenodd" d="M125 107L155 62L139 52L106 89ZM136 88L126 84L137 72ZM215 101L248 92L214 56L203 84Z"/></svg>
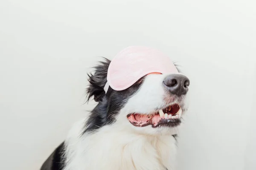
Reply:
<svg viewBox="0 0 256 170"><path fill-rule="evenodd" d="M152 125L152 127L158 127L160 125L175 127L181 123L181 114L182 108L180 108L179 105L174 104L152 114L131 113L127 115L127 118L132 125L137 127L148 125Z"/></svg>

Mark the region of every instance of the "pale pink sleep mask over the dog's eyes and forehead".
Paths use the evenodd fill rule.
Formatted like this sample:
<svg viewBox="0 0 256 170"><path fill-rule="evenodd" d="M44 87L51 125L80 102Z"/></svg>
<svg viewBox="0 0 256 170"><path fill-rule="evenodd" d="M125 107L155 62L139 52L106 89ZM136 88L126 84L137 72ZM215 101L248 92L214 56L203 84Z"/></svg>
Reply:
<svg viewBox="0 0 256 170"><path fill-rule="evenodd" d="M110 86L122 91L150 73L177 74L172 60L162 52L144 46L131 46L120 51L108 67L105 92Z"/></svg>

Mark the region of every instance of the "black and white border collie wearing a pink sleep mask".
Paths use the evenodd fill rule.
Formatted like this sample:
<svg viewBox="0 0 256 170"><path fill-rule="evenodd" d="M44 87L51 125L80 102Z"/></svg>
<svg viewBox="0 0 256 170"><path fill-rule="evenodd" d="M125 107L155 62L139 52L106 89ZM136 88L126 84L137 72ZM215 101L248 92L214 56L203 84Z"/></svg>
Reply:
<svg viewBox="0 0 256 170"><path fill-rule="evenodd" d="M189 79L177 68L178 74L151 73L125 90L105 92L110 63L104 58L88 74L87 101L97 105L73 125L41 170L175 169Z"/></svg>

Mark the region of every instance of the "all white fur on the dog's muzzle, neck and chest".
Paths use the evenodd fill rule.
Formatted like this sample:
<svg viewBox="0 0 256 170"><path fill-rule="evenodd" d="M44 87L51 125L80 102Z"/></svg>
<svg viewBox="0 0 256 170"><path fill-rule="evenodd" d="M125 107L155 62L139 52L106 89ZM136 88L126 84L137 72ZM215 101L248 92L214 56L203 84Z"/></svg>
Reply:
<svg viewBox="0 0 256 170"><path fill-rule="evenodd" d="M163 87L165 76L148 75L112 125L82 136L85 120L74 125L65 141L67 163L64 170L175 169L176 140L172 135L178 128L135 127L127 119L129 113L151 113L177 102ZM185 102L181 104L185 111Z"/></svg>

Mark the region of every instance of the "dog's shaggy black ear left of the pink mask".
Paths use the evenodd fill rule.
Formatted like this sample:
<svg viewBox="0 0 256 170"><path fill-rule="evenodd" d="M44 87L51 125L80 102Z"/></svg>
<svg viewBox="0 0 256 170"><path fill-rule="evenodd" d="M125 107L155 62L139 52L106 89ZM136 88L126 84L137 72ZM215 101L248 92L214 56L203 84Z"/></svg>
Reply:
<svg viewBox="0 0 256 170"><path fill-rule="evenodd" d="M96 102L99 102L102 101L102 98L105 96L104 86L107 83L108 66L110 62L109 59L104 58L104 61L99 62L99 65L93 67L95 69L94 73L87 74L89 77L87 102L91 97L93 97Z"/></svg>

